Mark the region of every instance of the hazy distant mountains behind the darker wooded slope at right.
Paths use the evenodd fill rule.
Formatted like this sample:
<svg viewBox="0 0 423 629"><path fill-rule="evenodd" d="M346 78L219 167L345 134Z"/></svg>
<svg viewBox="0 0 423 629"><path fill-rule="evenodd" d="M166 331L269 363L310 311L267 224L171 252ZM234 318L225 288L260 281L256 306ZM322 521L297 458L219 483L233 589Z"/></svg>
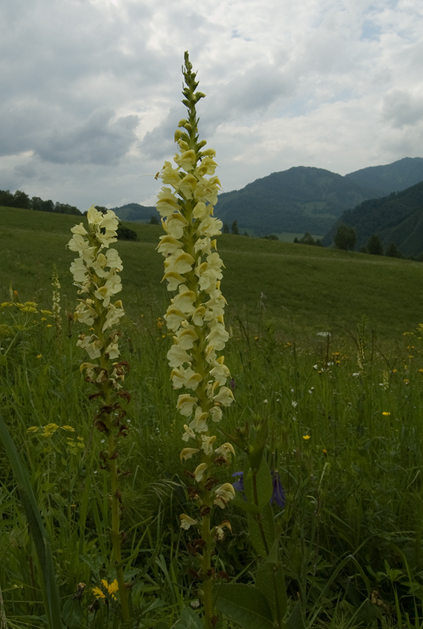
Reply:
<svg viewBox="0 0 423 629"><path fill-rule="evenodd" d="M404 157L392 164L369 166L339 175L314 166L293 166L222 192L215 215L252 235L291 232L328 233L347 210L371 198L401 191L423 180L423 158ZM152 206L129 203L113 208L123 220L148 221Z"/></svg>

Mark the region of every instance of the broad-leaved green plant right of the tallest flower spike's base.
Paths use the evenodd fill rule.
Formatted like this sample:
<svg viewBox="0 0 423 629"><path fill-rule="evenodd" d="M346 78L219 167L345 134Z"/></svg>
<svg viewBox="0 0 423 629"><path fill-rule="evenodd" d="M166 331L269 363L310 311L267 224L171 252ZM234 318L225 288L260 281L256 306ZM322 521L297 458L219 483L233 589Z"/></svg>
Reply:
<svg viewBox="0 0 423 629"><path fill-rule="evenodd" d="M255 433L255 434L254 434ZM221 584L217 606L243 629L285 629L287 592L280 554L280 526L275 521L272 504L285 506L285 492L278 470L268 465L268 426L262 421L256 431L248 424L238 428L231 440L245 452L243 472L235 483L239 492L234 505L247 516L248 535L254 551L261 558L254 586L243 583ZM303 627L301 607L294 607L290 622Z"/></svg>

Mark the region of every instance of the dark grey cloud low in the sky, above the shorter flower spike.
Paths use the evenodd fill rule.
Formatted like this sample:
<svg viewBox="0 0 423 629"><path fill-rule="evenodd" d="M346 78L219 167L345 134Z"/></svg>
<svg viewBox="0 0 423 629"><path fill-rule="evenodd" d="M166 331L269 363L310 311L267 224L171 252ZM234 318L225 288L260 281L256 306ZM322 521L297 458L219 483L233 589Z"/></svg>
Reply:
<svg viewBox="0 0 423 629"><path fill-rule="evenodd" d="M73 128L55 128L36 152L45 161L58 164L114 164L136 140L136 115L112 121L110 108L94 110Z"/></svg>

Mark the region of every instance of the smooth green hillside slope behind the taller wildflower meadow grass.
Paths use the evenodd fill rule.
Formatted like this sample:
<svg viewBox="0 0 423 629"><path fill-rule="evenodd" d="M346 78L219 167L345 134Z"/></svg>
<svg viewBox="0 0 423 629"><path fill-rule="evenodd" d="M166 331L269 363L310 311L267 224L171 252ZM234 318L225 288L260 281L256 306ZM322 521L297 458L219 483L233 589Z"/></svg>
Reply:
<svg viewBox="0 0 423 629"><path fill-rule="evenodd" d="M73 253L66 243L76 217L0 208L0 219L1 301L12 287L21 301L48 305L57 264L64 302L73 310ZM130 226L140 242L116 244L124 263L122 300L131 317L152 310L159 315L169 299L161 284L162 256L155 251L162 228ZM222 290L229 324L248 317L253 329L267 321L287 336L314 337L354 331L366 315L380 335L396 337L423 321L420 263L232 235L220 236L218 247L226 266Z"/></svg>

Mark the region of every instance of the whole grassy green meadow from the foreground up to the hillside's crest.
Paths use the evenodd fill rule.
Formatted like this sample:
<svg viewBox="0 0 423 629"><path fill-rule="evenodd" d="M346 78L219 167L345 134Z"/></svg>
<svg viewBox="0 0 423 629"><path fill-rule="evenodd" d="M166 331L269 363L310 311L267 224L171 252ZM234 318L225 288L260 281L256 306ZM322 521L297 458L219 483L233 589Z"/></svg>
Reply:
<svg viewBox="0 0 423 629"><path fill-rule="evenodd" d="M36 296L51 308L56 263L73 310L72 255L64 247L75 217L1 212L8 252L1 301L12 282L20 301ZM172 340L162 321L169 297L159 284L160 231L134 229L141 242L117 243L128 312L122 357L131 366L123 551L134 627L169 629L198 595L189 535L179 528L189 507L166 360ZM241 236L222 236L219 249L231 326L225 362L236 398L222 430L248 422L254 432L268 422L266 456L285 489L285 509L273 508L289 607L301 601L307 628L422 626L421 266ZM51 317L15 312L13 319L13 312L0 314L1 412L50 534L65 626L117 627L113 598L96 609L92 593L114 577L80 327L64 320L57 338ZM317 335L329 329L331 336ZM0 614L10 627L45 627L36 554L1 445L0 468ZM231 471L241 469L239 451ZM234 535L217 548L218 562L229 578L254 582L245 514L230 507L228 517Z"/></svg>

